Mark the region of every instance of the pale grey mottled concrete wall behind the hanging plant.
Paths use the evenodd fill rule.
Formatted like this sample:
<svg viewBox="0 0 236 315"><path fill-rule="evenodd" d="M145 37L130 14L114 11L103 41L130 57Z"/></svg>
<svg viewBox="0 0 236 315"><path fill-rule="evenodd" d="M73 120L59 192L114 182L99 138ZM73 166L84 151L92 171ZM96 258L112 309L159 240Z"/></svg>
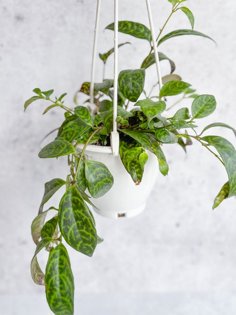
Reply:
<svg viewBox="0 0 236 315"><path fill-rule="evenodd" d="M151 5L160 28L170 4L160 0ZM217 111L199 125L223 121L235 126L236 5L220 0L186 5L195 15L195 30L211 36L218 46L183 36L164 43L161 51L175 61L175 72L184 81L217 99ZM113 22L113 8L108 0L102 6L98 51L106 52L113 45L112 32L103 29ZM66 103L73 104L74 92L90 79L95 0L0 0L0 10L0 293L43 294L44 288L30 277L34 252L30 225L44 183L65 177L67 168L65 159L40 160L37 153L40 140L60 125L63 112L52 110L42 117L45 103L32 104L26 113L23 104L35 87L54 88L57 96L68 92ZM121 0L120 20L148 25L145 10L144 1L137 5L134 0ZM174 28L189 28L183 13L176 14L167 31ZM147 44L139 48L136 45L142 41L128 35L121 35L123 40L132 45L120 49L120 68L138 67ZM165 74L168 63L162 62L162 67ZM96 80L101 73L97 71ZM112 68L106 73L111 76ZM230 131L215 129L215 133L235 145ZM235 198L211 211L214 196L227 180L224 170L198 144L189 147L187 155L179 147L167 145L164 150L170 172L166 178L159 176L146 211L128 220L95 215L97 231L105 241L93 258L69 249L76 294L236 290ZM54 205L59 199L55 196ZM46 256L42 254L40 260L44 264Z"/></svg>

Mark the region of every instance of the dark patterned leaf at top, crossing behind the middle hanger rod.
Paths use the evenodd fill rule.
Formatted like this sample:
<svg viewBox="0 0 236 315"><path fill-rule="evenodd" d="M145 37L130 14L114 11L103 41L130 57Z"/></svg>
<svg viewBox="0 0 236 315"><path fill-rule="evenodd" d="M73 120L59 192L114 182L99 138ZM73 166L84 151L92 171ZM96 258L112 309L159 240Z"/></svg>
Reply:
<svg viewBox="0 0 236 315"><path fill-rule="evenodd" d="M113 31L114 23L109 24L105 29L110 29ZM147 40L151 43L151 31L143 24L131 21L119 21L118 31L139 39Z"/></svg>

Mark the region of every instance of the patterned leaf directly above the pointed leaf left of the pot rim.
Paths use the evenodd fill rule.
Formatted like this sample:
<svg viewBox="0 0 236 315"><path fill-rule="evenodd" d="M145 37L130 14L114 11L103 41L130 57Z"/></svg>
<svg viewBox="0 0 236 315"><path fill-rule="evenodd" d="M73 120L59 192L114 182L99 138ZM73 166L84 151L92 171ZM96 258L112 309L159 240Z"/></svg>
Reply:
<svg viewBox="0 0 236 315"><path fill-rule="evenodd" d="M58 137L64 138L71 142L84 135L90 126L87 123L82 122L79 118L74 120L68 120L63 127L58 131Z"/></svg>

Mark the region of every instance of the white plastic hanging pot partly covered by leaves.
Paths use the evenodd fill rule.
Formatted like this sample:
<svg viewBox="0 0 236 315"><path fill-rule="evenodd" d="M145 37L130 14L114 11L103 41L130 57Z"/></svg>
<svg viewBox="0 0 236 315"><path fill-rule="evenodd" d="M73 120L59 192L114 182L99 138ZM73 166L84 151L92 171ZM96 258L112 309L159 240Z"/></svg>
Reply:
<svg viewBox="0 0 236 315"><path fill-rule="evenodd" d="M78 144L76 151L82 151L84 144ZM91 198L94 211L109 218L131 217L141 213L146 206L147 198L154 186L158 173L158 159L150 152L144 166L144 174L139 185L135 185L127 173L120 156L112 156L110 146L89 144L85 158L105 164L114 177L112 188L100 198Z"/></svg>

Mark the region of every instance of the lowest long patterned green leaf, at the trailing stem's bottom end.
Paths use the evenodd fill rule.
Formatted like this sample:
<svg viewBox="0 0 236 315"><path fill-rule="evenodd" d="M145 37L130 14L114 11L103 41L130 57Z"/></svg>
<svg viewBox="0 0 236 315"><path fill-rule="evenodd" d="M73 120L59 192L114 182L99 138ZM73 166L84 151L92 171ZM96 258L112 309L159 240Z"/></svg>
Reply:
<svg viewBox="0 0 236 315"><path fill-rule="evenodd" d="M61 243L50 251L45 273L46 297L56 315L74 313L74 277L70 258Z"/></svg>

